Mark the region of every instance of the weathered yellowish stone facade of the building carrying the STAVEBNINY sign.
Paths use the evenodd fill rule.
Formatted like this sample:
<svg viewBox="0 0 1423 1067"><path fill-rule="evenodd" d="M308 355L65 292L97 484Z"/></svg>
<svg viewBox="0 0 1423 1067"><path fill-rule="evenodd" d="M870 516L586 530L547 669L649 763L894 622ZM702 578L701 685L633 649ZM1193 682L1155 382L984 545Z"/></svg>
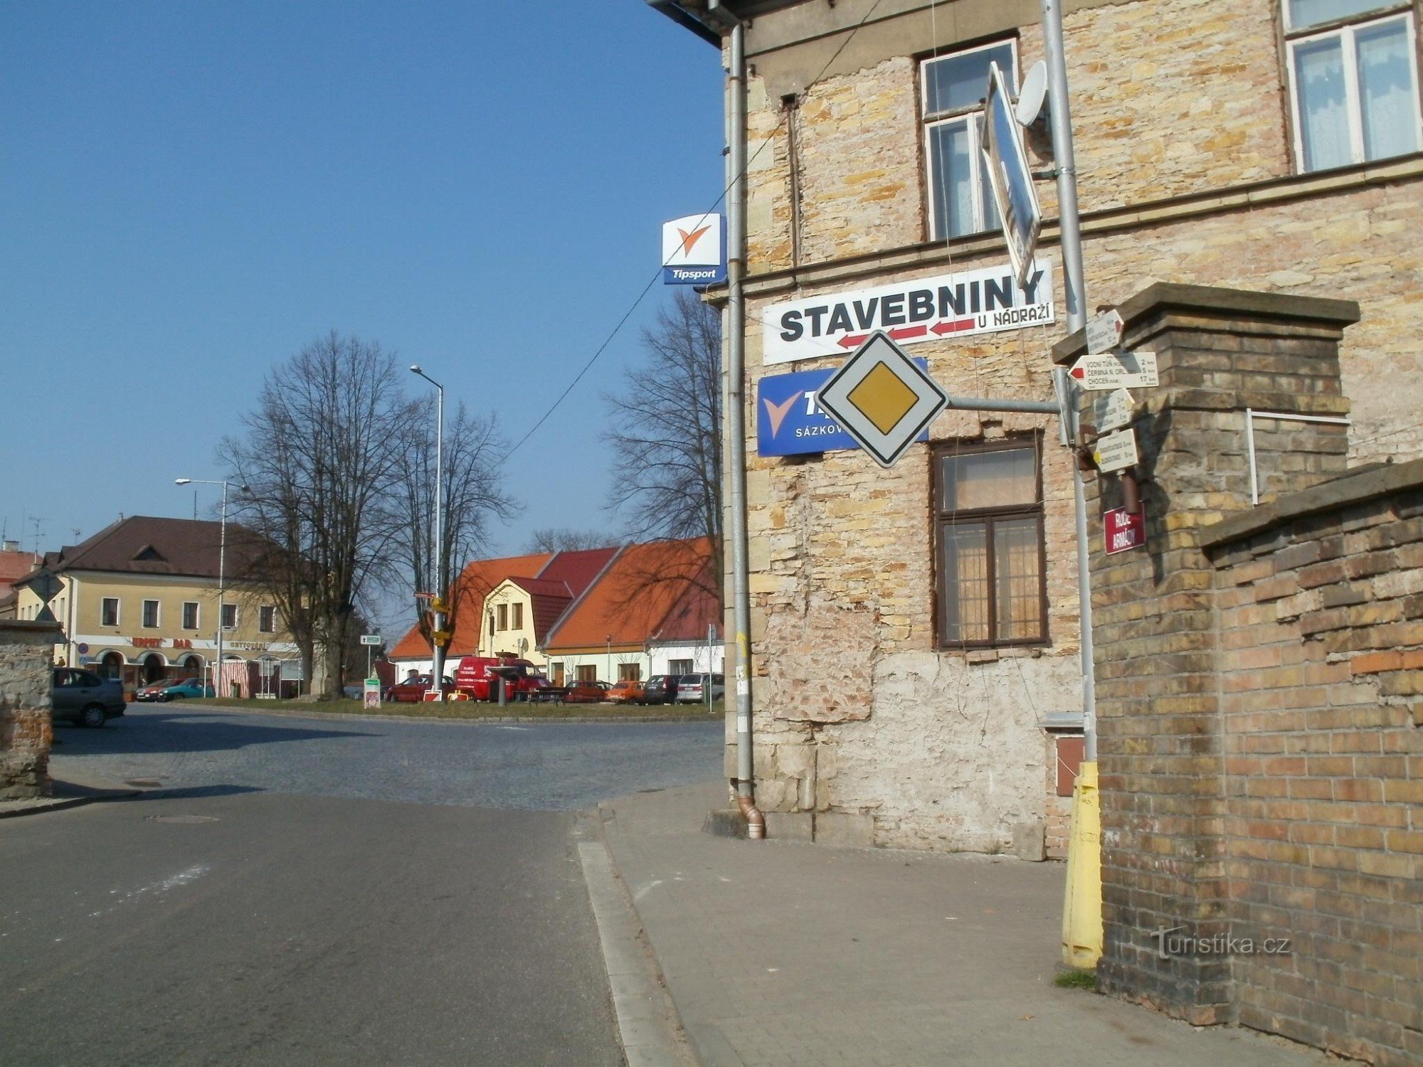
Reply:
<svg viewBox="0 0 1423 1067"><path fill-rule="evenodd" d="M1356 302L1360 322L1339 349L1350 462L1423 448L1419 4L1360 6L1063 4L1089 313L1153 282ZM1043 57L1043 36L1039 0L723 7L748 18L744 384L756 427L763 378L831 368L844 351L785 360L785 306L1006 267L976 176L953 176L982 95L955 64L1006 58L1016 84ZM1389 98L1397 137L1331 155L1338 145L1321 132L1318 85L1305 77L1319 77L1309 64L1321 48L1342 54L1369 34L1386 38L1402 78ZM1321 84L1343 85L1358 141L1368 71L1349 70L1353 81L1326 70ZM952 394L1052 397L1066 314L1054 189L1037 192L1037 259L1056 314L906 340ZM1035 457L1040 482L1025 502L1040 516L1044 630L1036 642L956 640L945 600L963 586L949 580L945 551L962 528L939 506L945 457L1013 444ZM757 440L748 451L756 774L768 832L996 849L1036 828L1060 842L1067 801L1054 787L1070 781L1063 755L1081 697L1072 457L1056 420L948 411L889 471L855 451L763 455ZM1100 539L1096 515L1089 526Z"/></svg>

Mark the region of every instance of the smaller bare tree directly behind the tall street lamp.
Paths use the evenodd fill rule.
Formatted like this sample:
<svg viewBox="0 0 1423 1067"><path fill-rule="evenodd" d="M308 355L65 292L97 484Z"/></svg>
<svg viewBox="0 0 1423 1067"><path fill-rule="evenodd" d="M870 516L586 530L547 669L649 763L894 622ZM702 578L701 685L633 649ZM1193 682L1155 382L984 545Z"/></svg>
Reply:
<svg viewBox="0 0 1423 1067"><path fill-rule="evenodd" d="M461 606L482 599L455 580L470 559L484 555L494 521L508 521L519 505L502 487L502 460L508 445L498 432L498 421L471 417L461 403L454 421L445 425L441 457L444 482L444 525L441 531L440 573L434 573L434 400L417 401L414 420L404 428L397 479L387 502L393 548L401 565L400 579L413 580L421 592L445 592L445 630L454 633ZM406 585L408 589L410 586ZM430 616L417 613L421 636L428 642Z"/></svg>

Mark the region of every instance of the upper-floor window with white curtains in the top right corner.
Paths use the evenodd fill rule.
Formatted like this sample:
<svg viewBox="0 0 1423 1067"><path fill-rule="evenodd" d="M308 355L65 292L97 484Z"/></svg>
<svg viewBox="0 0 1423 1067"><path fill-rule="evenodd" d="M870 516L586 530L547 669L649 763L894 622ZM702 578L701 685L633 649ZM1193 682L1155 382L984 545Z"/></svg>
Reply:
<svg viewBox="0 0 1423 1067"><path fill-rule="evenodd" d="M1301 171L1423 148L1412 4L1285 0L1285 37Z"/></svg>

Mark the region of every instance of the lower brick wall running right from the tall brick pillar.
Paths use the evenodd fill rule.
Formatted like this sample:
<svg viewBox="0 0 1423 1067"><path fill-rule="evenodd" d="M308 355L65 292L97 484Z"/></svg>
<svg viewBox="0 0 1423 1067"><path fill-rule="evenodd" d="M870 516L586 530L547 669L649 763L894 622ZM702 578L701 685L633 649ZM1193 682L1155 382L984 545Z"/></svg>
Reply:
<svg viewBox="0 0 1423 1067"><path fill-rule="evenodd" d="M1423 1058L1423 460L1221 524L1225 875L1239 1020Z"/></svg>

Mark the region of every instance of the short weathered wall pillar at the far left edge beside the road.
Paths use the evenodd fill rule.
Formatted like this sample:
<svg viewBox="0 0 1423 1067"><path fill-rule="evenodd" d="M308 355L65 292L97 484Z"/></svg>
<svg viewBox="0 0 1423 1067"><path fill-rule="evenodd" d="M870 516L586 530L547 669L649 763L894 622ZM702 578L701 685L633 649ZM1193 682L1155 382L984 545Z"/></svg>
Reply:
<svg viewBox="0 0 1423 1067"><path fill-rule="evenodd" d="M0 619L0 800L50 791L54 623Z"/></svg>

